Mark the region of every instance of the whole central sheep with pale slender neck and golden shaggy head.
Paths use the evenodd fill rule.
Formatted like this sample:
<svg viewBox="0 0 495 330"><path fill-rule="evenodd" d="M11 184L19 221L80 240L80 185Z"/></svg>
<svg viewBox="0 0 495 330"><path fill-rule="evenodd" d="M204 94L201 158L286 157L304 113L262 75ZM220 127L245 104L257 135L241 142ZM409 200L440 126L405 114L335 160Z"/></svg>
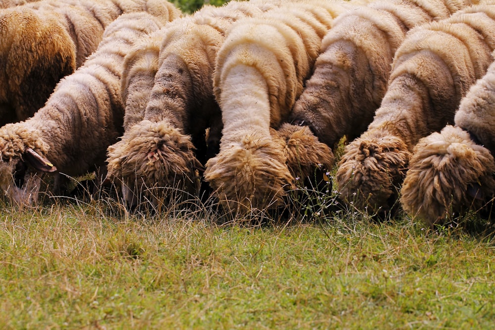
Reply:
<svg viewBox="0 0 495 330"><path fill-rule="evenodd" d="M222 110L220 152L204 172L227 212L276 208L295 188L287 153L270 128L287 121L332 20L357 6L301 1L240 20L229 31L213 77Z"/></svg>

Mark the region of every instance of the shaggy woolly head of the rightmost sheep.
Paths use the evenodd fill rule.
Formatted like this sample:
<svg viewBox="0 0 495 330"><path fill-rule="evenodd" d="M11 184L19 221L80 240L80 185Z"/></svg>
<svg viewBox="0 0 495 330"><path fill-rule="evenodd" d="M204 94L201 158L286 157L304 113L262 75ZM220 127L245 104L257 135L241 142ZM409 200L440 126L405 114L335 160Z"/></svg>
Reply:
<svg viewBox="0 0 495 330"><path fill-rule="evenodd" d="M401 190L403 209L428 225L442 224L463 208L481 209L495 193L494 157L459 127L421 139Z"/></svg>

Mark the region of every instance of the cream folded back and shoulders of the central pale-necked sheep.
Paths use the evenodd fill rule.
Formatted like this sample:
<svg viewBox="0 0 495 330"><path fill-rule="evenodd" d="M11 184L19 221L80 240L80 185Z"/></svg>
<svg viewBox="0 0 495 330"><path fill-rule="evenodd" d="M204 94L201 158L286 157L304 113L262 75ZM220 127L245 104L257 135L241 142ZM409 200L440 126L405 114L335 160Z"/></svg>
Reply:
<svg viewBox="0 0 495 330"><path fill-rule="evenodd" d="M330 29L334 17L354 6L296 1L236 22L217 57L213 84L220 105L221 81L230 69L240 64L256 67L269 89L271 124L278 126L302 92L326 32L322 26Z"/></svg>

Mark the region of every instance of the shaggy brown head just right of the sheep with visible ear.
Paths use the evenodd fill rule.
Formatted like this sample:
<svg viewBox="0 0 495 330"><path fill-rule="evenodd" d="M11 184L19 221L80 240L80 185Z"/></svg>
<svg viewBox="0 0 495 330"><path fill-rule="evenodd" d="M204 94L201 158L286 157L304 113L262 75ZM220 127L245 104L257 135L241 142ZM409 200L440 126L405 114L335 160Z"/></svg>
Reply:
<svg viewBox="0 0 495 330"><path fill-rule="evenodd" d="M168 122L144 120L108 147L106 181L122 183L124 202L130 208L144 201L156 204L170 188L175 193L195 193L202 167L194 149L191 138Z"/></svg>

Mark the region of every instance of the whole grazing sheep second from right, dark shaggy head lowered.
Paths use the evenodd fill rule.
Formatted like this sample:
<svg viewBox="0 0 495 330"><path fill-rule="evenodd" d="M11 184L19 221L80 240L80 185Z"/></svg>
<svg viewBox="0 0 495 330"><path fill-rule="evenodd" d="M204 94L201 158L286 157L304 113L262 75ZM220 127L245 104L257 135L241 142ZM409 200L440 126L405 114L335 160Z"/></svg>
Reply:
<svg viewBox="0 0 495 330"><path fill-rule="evenodd" d="M492 62L494 18L495 6L475 5L409 32L373 122L339 163L347 202L372 213L396 203L414 145L453 122L460 99Z"/></svg>

